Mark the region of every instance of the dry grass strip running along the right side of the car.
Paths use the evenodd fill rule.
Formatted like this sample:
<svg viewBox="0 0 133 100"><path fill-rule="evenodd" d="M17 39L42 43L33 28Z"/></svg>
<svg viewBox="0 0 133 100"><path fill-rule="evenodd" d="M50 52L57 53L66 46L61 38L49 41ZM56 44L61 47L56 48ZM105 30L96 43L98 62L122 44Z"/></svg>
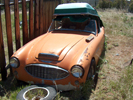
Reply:
<svg viewBox="0 0 133 100"><path fill-rule="evenodd" d="M97 88L90 96L91 100L129 100L132 96L131 79L133 66L124 63L133 58L133 14L116 9L99 11L105 25L107 50L99 71ZM128 94L127 94L128 93Z"/></svg>

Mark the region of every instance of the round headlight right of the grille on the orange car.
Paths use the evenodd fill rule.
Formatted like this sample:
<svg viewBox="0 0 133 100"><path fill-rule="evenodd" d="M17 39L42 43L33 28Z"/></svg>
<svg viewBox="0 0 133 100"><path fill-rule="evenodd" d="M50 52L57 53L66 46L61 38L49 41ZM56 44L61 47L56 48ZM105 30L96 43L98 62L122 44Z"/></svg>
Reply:
<svg viewBox="0 0 133 100"><path fill-rule="evenodd" d="M79 65L75 65L71 69L71 73L74 77L82 77L83 76L83 68Z"/></svg>

